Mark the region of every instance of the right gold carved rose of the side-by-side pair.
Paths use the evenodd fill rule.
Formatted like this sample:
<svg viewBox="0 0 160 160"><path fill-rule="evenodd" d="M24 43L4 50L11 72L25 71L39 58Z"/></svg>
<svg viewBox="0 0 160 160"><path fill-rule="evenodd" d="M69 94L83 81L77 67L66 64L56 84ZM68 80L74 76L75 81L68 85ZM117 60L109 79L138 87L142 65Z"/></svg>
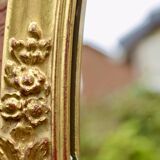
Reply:
<svg viewBox="0 0 160 160"><path fill-rule="evenodd" d="M26 101L25 115L34 126L44 122L47 119L49 108L43 98L30 98Z"/></svg>

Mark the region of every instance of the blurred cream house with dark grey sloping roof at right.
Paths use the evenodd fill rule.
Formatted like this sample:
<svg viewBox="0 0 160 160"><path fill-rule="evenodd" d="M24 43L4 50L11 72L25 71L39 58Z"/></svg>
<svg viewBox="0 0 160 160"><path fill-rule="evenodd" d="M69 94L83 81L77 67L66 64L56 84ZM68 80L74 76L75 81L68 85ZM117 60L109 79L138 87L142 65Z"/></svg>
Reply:
<svg viewBox="0 0 160 160"><path fill-rule="evenodd" d="M160 8L122 38L120 45L127 61L140 75L141 84L150 91L160 92Z"/></svg>

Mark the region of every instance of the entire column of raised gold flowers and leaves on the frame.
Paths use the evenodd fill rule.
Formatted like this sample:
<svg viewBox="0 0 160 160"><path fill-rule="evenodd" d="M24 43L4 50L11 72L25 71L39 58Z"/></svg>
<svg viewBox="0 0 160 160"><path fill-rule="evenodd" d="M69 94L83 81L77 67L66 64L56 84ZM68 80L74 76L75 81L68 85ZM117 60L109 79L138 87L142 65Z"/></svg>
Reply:
<svg viewBox="0 0 160 160"><path fill-rule="evenodd" d="M29 24L28 34L25 40L9 40L13 59L5 65L4 80L10 93L1 98L0 114L4 123L13 122L9 131L14 143L0 138L0 160L48 159L49 140L39 142L38 136L33 135L39 125L47 122L50 112L50 84L39 64L42 65L51 52L51 39L42 38L42 30L36 22ZM26 143L32 145L28 148Z"/></svg>

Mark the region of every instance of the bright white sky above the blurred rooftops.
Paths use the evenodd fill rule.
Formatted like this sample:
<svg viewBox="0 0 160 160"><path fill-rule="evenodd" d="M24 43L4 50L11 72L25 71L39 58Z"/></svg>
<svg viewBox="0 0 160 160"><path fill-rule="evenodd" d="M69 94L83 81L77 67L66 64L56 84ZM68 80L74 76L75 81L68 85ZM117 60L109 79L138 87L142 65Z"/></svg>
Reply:
<svg viewBox="0 0 160 160"><path fill-rule="evenodd" d="M84 43L109 56L119 39L142 23L148 13L160 7L160 0L88 0Z"/></svg>

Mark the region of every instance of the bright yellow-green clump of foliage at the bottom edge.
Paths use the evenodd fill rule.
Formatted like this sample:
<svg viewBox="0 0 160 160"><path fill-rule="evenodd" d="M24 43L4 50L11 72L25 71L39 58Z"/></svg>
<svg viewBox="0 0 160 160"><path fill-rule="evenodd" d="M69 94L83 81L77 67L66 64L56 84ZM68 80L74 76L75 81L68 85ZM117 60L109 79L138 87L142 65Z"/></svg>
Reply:
<svg viewBox="0 0 160 160"><path fill-rule="evenodd" d="M160 153L155 143L138 132L139 124L129 121L108 136L98 160L159 160Z"/></svg>

